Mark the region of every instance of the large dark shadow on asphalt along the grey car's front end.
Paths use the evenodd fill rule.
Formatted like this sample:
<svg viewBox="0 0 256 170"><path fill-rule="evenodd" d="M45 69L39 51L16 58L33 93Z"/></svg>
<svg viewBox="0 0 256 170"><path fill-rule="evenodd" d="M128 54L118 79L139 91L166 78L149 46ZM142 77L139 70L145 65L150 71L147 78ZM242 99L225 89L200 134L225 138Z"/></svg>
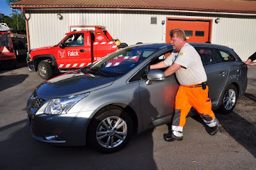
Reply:
<svg viewBox="0 0 256 170"><path fill-rule="evenodd" d="M1 169L157 169L152 132L136 135L123 150L102 154L90 146L39 143L32 138L27 120L23 120L0 128Z"/></svg>

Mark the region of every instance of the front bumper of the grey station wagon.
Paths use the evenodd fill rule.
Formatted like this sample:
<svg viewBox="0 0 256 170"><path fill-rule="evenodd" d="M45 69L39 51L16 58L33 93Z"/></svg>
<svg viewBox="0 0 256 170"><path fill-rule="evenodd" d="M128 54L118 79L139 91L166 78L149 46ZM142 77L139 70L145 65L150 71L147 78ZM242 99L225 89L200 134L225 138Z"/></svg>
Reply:
<svg viewBox="0 0 256 170"><path fill-rule="evenodd" d="M40 111L40 110L39 110ZM33 138L43 143L61 146L83 146L86 144L86 128L92 112L50 115L32 114L27 108L29 128Z"/></svg>

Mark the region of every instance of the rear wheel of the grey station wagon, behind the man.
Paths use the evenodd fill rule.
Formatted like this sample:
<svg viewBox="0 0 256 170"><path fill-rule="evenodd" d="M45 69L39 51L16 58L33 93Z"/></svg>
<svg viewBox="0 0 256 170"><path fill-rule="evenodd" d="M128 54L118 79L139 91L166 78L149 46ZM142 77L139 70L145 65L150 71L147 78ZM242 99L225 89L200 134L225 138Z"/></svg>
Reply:
<svg viewBox="0 0 256 170"><path fill-rule="evenodd" d="M232 112L236 106L237 97L238 93L236 86L234 86L234 84L228 85L221 95L218 112L221 114L228 114L229 112Z"/></svg>

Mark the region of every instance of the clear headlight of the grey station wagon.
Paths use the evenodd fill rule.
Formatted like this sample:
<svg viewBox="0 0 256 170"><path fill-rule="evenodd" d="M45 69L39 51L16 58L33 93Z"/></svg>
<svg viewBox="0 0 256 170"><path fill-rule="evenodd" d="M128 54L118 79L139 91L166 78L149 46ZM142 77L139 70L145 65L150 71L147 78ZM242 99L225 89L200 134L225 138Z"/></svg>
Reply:
<svg viewBox="0 0 256 170"><path fill-rule="evenodd" d="M64 98L53 98L44 110L45 114L67 114L69 109L77 102L87 97L89 93Z"/></svg>

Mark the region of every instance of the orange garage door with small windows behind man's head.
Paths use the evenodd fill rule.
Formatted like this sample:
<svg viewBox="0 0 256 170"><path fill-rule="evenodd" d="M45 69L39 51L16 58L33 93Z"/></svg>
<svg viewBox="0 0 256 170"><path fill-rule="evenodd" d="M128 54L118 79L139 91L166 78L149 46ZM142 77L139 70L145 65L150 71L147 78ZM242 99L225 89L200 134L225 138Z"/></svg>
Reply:
<svg viewBox="0 0 256 170"><path fill-rule="evenodd" d="M169 31L182 28L186 33L187 42L211 42L212 20L167 19L166 43L170 43Z"/></svg>

